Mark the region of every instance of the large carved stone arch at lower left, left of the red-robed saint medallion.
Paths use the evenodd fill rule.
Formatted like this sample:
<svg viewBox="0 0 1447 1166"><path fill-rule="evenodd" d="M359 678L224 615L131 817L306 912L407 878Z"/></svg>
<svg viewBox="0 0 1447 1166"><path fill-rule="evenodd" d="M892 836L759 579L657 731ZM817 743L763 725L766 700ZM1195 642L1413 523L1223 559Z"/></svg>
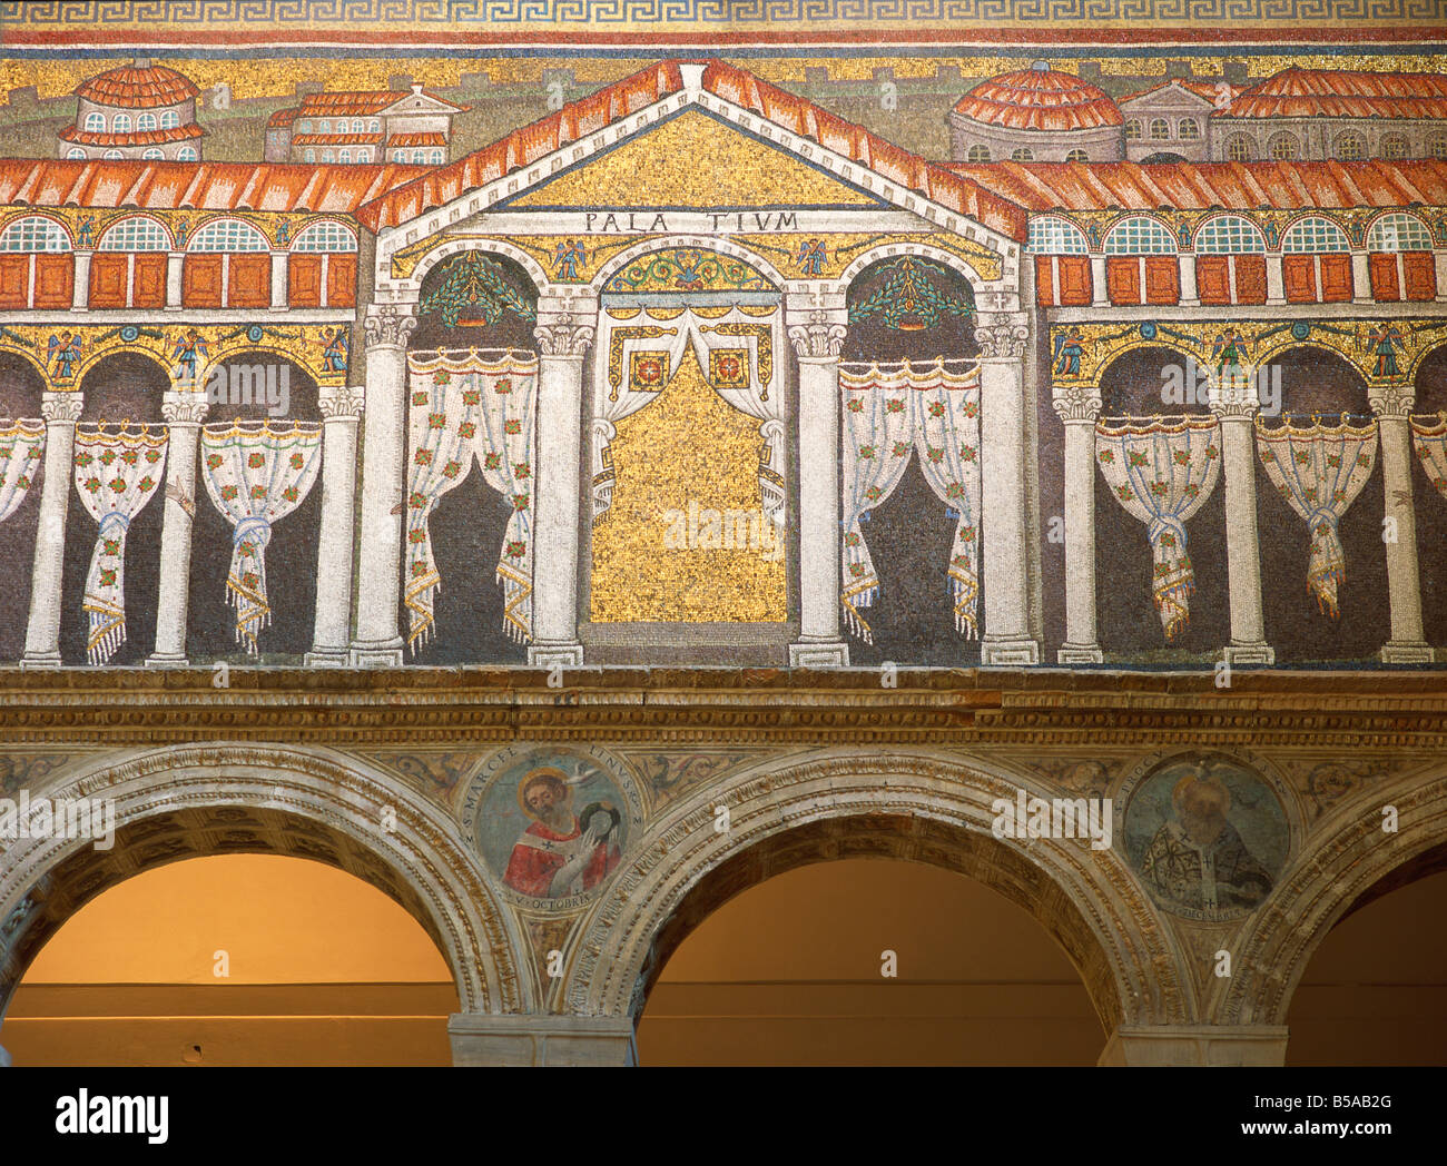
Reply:
<svg viewBox="0 0 1447 1166"><path fill-rule="evenodd" d="M20 839L0 875L0 1016L65 919L142 869L208 854L271 852L340 867L386 891L437 943L467 1013L527 1011L522 950L449 814L395 778L331 751L210 744L107 757L54 788L109 799L116 845ZM236 812L242 812L237 817ZM395 826L383 814L395 813Z"/></svg>

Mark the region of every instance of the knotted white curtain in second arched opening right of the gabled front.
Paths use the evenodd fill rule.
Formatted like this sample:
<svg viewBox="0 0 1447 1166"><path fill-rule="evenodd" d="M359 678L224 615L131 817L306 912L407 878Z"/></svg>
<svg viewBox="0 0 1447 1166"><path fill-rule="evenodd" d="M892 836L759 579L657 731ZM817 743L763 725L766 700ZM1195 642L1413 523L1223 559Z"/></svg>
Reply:
<svg viewBox="0 0 1447 1166"><path fill-rule="evenodd" d="M1268 430L1256 420L1256 448L1266 476L1291 508L1311 528L1307 589L1317 609L1333 619L1341 615L1337 589L1346 579L1346 556L1337 524L1372 476L1376 464L1376 421L1351 425L1311 425L1291 421Z"/></svg>

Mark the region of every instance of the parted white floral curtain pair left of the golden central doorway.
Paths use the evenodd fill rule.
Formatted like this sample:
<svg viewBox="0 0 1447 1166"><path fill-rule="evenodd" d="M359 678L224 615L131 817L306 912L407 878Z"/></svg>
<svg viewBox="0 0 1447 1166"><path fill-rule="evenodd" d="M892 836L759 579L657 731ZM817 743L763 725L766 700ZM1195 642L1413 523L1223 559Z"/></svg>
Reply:
<svg viewBox="0 0 1447 1166"><path fill-rule="evenodd" d="M407 583L408 645L433 637L441 576L428 529L433 508L472 470L512 503L496 579L509 637L532 637L532 466L537 357L512 352L431 353L408 357Z"/></svg>

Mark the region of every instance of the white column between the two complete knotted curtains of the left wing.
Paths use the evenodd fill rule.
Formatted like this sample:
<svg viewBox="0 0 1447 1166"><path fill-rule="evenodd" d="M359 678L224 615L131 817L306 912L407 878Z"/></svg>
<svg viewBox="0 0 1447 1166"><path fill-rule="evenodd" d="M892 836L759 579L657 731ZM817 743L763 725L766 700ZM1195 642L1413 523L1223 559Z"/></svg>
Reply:
<svg viewBox="0 0 1447 1166"><path fill-rule="evenodd" d="M168 392L161 405L169 430L165 511L161 525L161 587L156 650L149 668L187 665L185 625L191 599L191 524L195 521L195 453L205 420L205 392Z"/></svg>

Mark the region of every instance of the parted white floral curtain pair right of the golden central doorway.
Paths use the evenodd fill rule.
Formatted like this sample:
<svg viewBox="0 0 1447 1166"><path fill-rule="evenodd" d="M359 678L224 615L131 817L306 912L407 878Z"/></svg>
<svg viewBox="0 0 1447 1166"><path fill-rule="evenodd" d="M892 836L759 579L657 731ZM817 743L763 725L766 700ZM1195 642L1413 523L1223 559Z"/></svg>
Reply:
<svg viewBox="0 0 1447 1166"><path fill-rule="evenodd" d="M864 522L899 486L917 448L925 480L955 518L949 563L955 626L974 637L980 596L978 365L844 365L839 389L845 430L841 602L849 631L874 642L861 609L878 599L880 577L864 540Z"/></svg>

